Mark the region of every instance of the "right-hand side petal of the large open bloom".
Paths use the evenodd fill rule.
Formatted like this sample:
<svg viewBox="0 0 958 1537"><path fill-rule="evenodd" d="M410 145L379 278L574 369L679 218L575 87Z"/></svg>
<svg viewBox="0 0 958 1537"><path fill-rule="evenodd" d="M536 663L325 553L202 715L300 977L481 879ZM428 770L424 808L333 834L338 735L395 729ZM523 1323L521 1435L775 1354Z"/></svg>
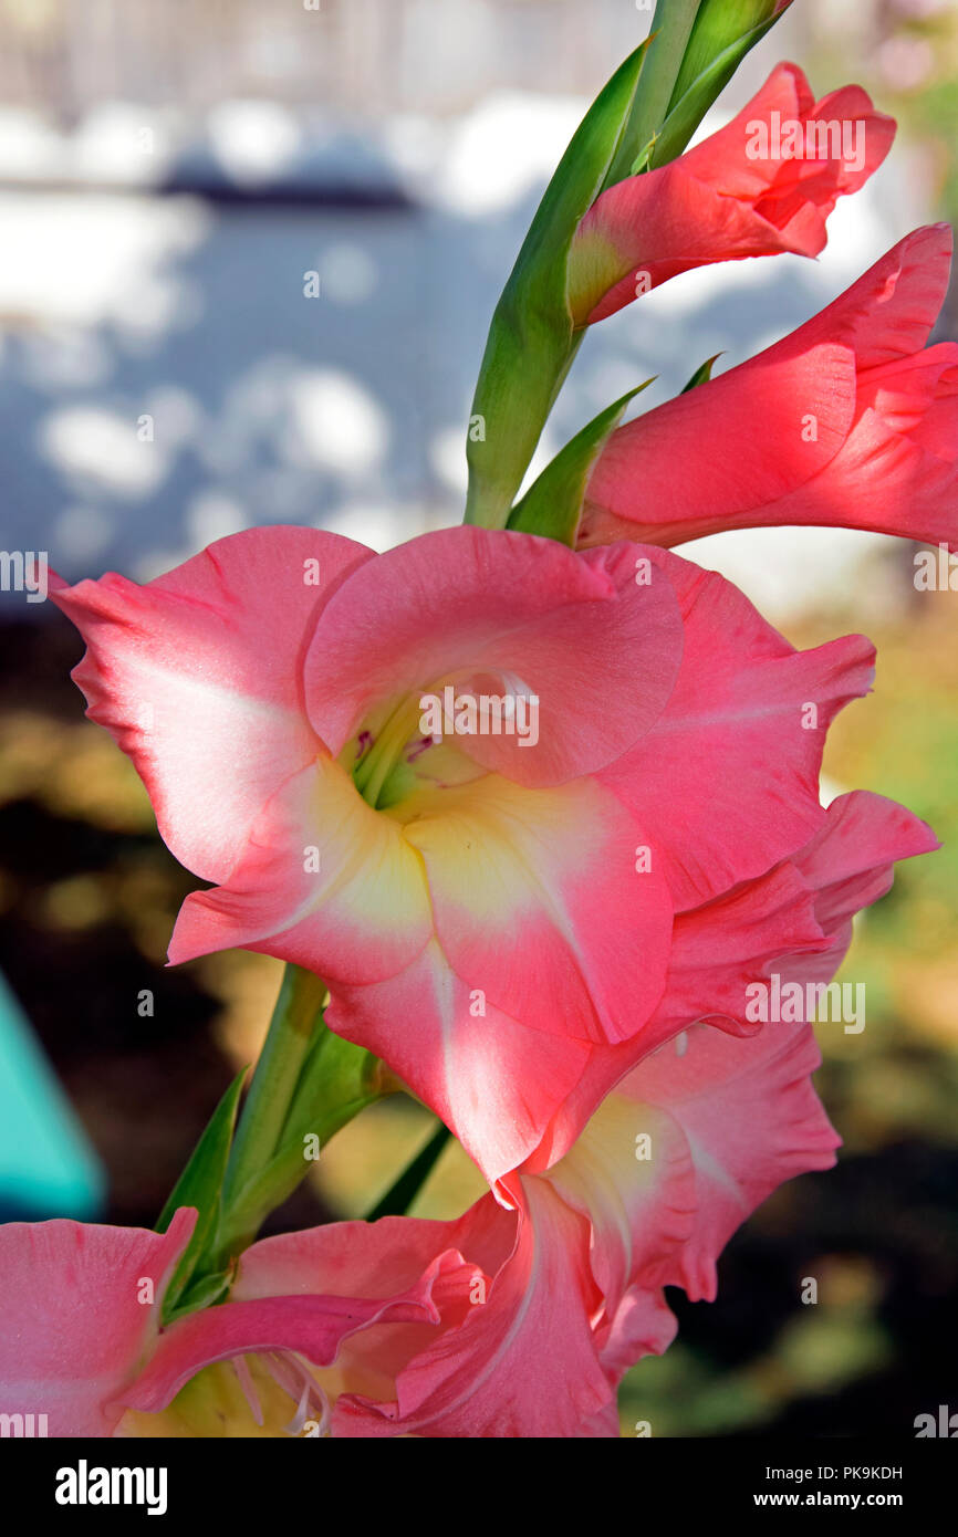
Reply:
<svg viewBox="0 0 958 1537"><path fill-rule="evenodd" d="M818 830L826 730L870 689L873 649L846 636L795 652L730 583L669 559L684 615L680 678L655 727L600 779L655 828L681 911Z"/></svg>

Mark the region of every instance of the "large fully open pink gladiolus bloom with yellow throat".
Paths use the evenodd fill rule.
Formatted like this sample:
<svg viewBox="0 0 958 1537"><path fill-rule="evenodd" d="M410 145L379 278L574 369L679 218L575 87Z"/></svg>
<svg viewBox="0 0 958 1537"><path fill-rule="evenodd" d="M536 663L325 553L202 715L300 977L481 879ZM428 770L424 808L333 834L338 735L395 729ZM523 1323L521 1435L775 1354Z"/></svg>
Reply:
<svg viewBox="0 0 958 1537"><path fill-rule="evenodd" d="M386 555L258 529L146 587L52 596L88 641L89 715L217 882L171 961L240 945L317 971L331 1027L491 1183L586 1071L615 1082L623 1044L661 1039L674 915L823 827L824 733L872 678L864 639L795 652L678 556L474 527ZM538 741L435 741L421 699L446 687L535 696Z"/></svg>

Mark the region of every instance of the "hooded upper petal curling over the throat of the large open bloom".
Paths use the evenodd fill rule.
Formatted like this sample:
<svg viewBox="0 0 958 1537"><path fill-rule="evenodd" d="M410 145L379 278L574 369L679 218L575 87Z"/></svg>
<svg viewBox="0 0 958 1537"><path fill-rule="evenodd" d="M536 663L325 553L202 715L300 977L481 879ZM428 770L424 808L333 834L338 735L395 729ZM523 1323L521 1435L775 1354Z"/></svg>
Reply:
<svg viewBox="0 0 958 1537"><path fill-rule="evenodd" d="M306 699L338 753L384 702L444 682L535 695L535 745L509 735L457 741L509 779L554 785L607 764L649 729L680 653L669 583L640 586L627 549L583 561L555 539L443 529L380 555L331 598L306 658Z"/></svg>

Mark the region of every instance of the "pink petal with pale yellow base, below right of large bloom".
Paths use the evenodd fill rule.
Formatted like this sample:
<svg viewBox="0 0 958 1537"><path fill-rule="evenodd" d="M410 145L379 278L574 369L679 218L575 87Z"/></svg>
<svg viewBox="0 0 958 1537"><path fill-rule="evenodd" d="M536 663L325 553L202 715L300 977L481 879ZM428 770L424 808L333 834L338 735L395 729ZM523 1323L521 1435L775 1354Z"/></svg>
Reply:
<svg viewBox="0 0 958 1537"><path fill-rule="evenodd" d="M694 1027L684 1050L643 1059L549 1170L592 1227L610 1365L667 1343L663 1285L714 1299L735 1228L786 1179L835 1162L838 1139L810 1084L818 1062L809 1025L750 1039Z"/></svg>

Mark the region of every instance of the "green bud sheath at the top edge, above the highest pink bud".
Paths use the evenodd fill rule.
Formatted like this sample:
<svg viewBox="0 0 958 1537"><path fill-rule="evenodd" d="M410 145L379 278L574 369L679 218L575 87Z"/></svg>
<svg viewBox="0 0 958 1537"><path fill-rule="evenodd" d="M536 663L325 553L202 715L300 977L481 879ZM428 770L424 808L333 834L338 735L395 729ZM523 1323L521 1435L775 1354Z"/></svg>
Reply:
<svg viewBox="0 0 958 1537"><path fill-rule="evenodd" d="M703 117L724 91L746 54L783 14L769 0L704 0L675 83L669 114L644 151L650 168L681 155ZM758 17L758 20L755 20Z"/></svg>

